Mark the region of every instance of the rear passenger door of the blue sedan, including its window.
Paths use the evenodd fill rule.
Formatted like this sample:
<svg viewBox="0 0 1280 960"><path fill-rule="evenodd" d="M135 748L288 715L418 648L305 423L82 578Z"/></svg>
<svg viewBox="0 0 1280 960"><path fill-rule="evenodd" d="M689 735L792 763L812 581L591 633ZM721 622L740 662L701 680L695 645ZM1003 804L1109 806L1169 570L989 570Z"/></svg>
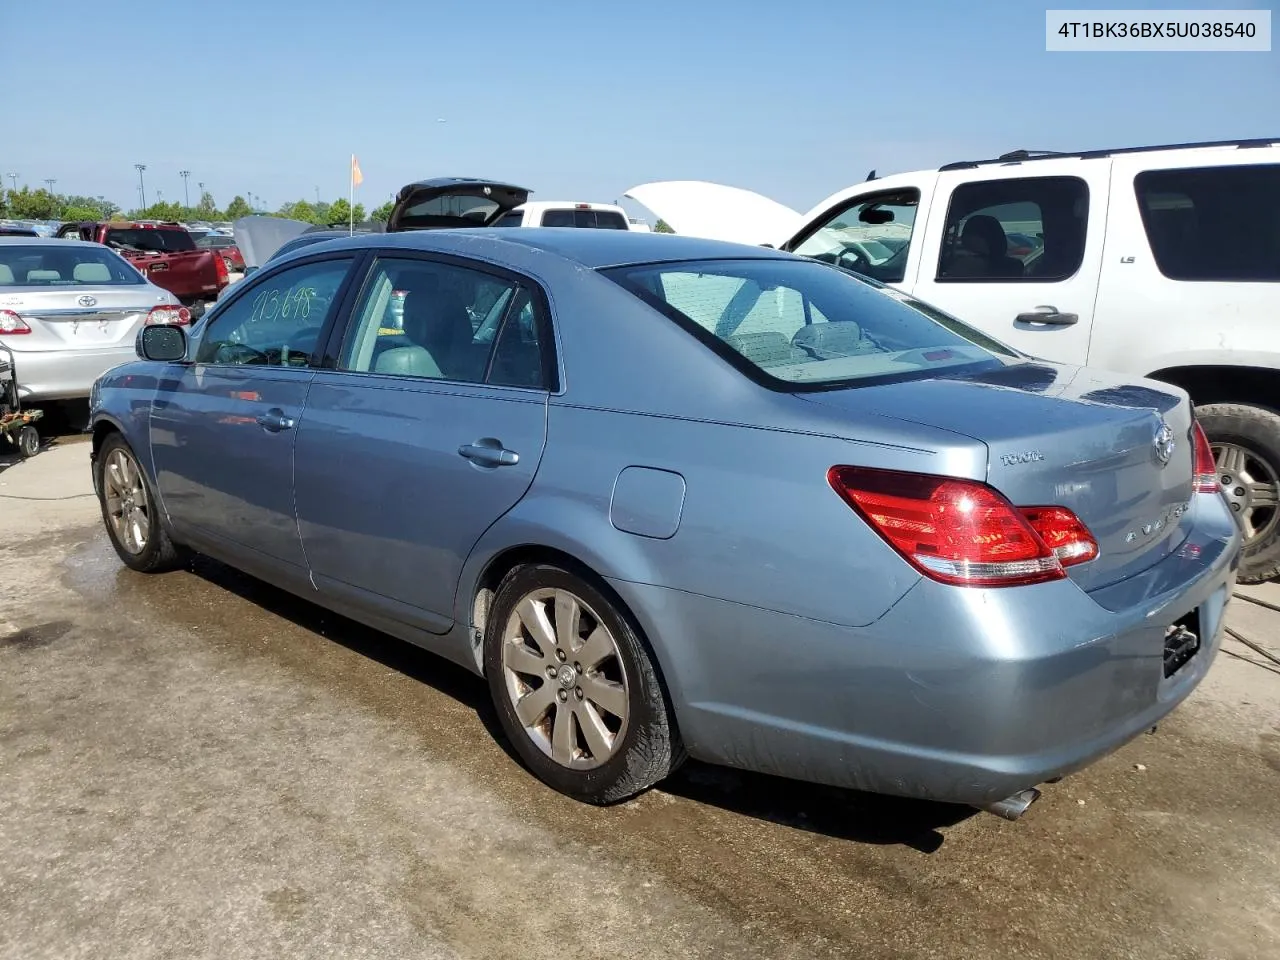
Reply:
<svg viewBox="0 0 1280 960"><path fill-rule="evenodd" d="M374 260L298 428L298 525L320 590L449 628L463 561L541 457L548 330L526 278L404 252Z"/></svg>

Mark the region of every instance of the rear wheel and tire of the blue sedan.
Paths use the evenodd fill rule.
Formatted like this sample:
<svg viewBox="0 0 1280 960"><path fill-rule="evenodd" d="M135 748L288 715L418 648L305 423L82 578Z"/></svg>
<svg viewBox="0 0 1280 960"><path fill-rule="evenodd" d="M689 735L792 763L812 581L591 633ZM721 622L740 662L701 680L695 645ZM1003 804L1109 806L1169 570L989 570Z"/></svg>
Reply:
<svg viewBox="0 0 1280 960"><path fill-rule="evenodd" d="M507 737L552 788L617 803L684 760L671 707L630 617L567 570L527 564L503 577L484 654Z"/></svg>

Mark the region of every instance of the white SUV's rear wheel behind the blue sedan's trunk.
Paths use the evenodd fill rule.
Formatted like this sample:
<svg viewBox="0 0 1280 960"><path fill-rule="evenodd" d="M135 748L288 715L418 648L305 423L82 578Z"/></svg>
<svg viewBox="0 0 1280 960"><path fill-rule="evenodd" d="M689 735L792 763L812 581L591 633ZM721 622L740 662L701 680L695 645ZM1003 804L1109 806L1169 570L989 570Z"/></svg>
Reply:
<svg viewBox="0 0 1280 960"><path fill-rule="evenodd" d="M1245 535L1239 581L1280 576L1280 413L1244 403L1196 410L1219 480Z"/></svg>

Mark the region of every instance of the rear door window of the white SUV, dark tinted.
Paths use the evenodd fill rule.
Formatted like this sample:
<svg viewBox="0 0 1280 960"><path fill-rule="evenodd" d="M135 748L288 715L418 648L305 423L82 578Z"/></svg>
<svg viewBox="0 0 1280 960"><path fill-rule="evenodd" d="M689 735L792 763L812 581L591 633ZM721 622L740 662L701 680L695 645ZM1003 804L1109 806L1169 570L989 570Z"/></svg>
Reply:
<svg viewBox="0 0 1280 960"><path fill-rule="evenodd" d="M937 280L1053 283L1084 261L1089 188L1078 177L963 183L951 193Z"/></svg>

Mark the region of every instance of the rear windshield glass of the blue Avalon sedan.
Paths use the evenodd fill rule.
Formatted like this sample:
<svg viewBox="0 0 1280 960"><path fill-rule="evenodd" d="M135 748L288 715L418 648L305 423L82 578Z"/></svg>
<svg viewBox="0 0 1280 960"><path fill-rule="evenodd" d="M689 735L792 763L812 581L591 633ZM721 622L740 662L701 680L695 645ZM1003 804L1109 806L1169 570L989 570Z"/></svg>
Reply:
<svg viewBox="0 0 1280 960"><path fill-rule="evenodd" d="M740 366L745 361L746 372L786 389L1019 356L906 294L817 261L682 261L603 273Z"/></svg>

